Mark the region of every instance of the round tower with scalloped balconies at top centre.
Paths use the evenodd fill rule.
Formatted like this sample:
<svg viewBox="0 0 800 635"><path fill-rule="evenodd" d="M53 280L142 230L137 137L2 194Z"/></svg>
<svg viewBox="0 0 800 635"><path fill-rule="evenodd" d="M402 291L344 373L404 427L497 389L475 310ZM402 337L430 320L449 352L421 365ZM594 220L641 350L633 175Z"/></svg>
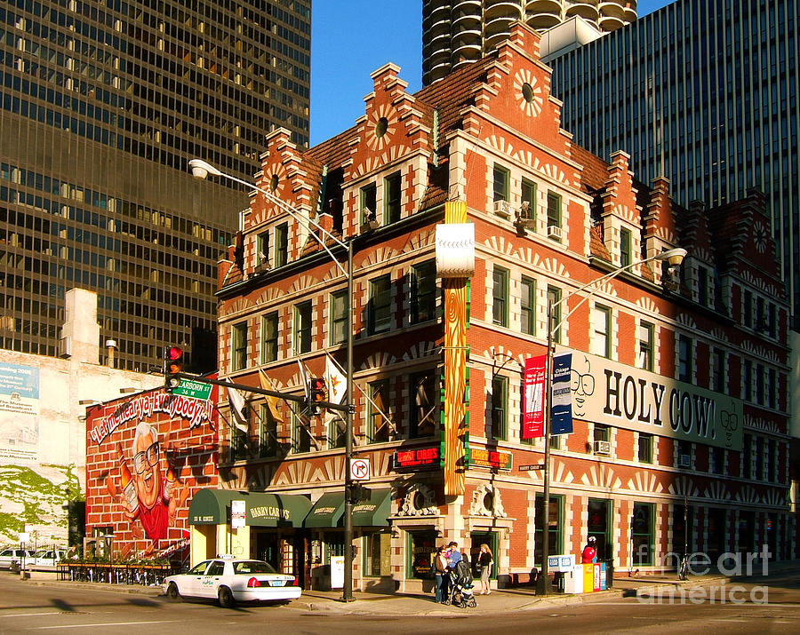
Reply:
<svg viewBox="0 0 800 635"><path fill-rule="evenodd" d="M612 31L636 20L636 0L422 0L422 83L479 60L517 20L544 30L575 16Z"/></svg>

